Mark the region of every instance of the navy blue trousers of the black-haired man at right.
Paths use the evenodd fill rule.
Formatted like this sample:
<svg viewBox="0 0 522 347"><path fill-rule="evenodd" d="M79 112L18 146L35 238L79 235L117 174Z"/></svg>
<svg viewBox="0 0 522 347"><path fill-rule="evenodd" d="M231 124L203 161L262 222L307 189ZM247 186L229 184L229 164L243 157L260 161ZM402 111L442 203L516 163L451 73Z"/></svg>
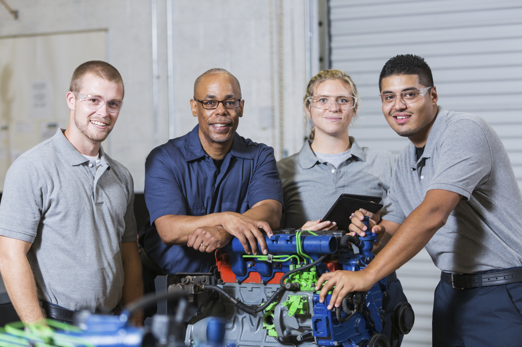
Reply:
<svg viewBox="0 0 522 347"><path fill-rule="evenodd" d="M453 289L441 280L433 302L433 346L522 346L521 312L522 283Z"/></svg>

